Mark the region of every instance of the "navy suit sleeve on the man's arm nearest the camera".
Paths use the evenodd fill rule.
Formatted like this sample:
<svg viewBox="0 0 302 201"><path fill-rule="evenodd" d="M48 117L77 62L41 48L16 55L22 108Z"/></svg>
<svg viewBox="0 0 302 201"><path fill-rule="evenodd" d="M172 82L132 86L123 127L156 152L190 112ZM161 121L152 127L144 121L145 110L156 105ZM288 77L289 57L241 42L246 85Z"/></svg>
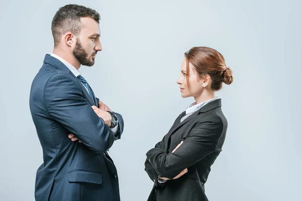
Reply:
<svg viewBox="0 0 302 201"><path fill-rule="evenodd" d="M94 112L79 83L71 77L64 74L51 76L45 84L44 102L49 116L93 152L102 154L112 146L114 136L111 129Z"/></svg>

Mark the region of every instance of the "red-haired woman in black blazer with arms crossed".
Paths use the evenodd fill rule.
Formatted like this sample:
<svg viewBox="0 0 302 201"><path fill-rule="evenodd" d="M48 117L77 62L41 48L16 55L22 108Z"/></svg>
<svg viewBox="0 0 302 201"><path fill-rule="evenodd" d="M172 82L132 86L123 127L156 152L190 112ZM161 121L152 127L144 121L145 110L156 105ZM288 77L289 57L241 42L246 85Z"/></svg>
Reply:
<svg viewBox="0 0 302 201"><path fill-rule="evenodd" d="M203 186L228 127L221 100L215 96L222 82L231 84L233 76L219 52L193 47L185 53L177 83L182 97L193 96L195 103L146 153L145 171L155 183L148 200L208 200Z"/></svg>

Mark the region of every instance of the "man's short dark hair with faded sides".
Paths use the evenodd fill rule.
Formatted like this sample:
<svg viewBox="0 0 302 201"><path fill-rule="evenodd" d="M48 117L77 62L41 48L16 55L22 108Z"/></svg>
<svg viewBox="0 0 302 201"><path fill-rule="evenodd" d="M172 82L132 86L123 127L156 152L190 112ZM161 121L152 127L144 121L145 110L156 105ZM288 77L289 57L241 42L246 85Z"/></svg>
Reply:
<svg viewBox="0 0 302 201"><path fill-rule="evenodd" d="M83 27L80 22L81 17L90 17L100 23L100 14L84 6L69 4L56 12L51 22L54 47L60 43L64 33L71 32L74 35L79 35Z"/></svg>

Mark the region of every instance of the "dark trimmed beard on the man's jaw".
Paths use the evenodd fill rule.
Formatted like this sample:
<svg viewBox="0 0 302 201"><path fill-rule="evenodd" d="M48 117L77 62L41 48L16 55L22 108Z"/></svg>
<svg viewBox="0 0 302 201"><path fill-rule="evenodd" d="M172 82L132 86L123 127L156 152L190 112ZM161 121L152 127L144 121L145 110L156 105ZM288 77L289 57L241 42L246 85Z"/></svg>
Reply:
<svg viewBox="0 0 302 201"><path fill-rule="evenodd" d="M93 66L94 65L94 58L92 57L92 55L90 57L88 57L87 53L85 52L85 50L82 47L82 44L81 44L79 38L77 39L77 43L75 43L75 47L72 50L72 54L74 55L74 57L76 59L78 59L78 61L82 65L84 65L84 66ZM94 54L96 54L96 52Z"/></svg>

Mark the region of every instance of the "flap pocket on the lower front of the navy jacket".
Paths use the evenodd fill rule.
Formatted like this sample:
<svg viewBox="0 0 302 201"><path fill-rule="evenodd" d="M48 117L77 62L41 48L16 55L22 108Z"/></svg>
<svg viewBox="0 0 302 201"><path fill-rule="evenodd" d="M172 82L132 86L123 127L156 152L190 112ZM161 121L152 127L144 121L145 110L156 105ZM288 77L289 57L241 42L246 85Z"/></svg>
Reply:
<svg viewBox="0 0 302 201"><path fill-rule="evenodd" d="M98 172L87 170L70 170L67 176L69 182L89 182L96 184L103 183L102 174Z"/></svg>

